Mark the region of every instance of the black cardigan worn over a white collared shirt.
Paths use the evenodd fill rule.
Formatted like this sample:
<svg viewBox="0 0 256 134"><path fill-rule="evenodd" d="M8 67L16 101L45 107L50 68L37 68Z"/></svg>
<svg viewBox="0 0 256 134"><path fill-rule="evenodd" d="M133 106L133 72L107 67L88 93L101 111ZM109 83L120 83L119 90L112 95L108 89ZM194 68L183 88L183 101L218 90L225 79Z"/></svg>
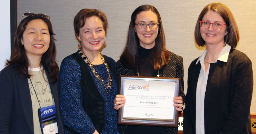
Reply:
<svg viewBox="0 0 256 134"><path fill-rule="evenodd" d="M201 69L197 59L188 68L184 134L196 133L196 86ZM204 97L205 134L252 133L252 90L252 62L244 53L231 48L227 63L210 63Z"/></svg>

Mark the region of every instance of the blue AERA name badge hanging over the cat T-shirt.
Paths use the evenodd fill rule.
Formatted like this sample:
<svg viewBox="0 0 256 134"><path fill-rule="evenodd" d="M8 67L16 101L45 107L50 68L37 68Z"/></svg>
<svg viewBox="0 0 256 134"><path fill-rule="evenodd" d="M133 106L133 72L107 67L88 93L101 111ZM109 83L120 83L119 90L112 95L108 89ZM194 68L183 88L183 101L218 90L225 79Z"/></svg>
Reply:
<svg viewBox="0 0 256 134"><path fill-rule="evenodd" d="M59 134L55 105L38 108L42 134Z"/></svg>

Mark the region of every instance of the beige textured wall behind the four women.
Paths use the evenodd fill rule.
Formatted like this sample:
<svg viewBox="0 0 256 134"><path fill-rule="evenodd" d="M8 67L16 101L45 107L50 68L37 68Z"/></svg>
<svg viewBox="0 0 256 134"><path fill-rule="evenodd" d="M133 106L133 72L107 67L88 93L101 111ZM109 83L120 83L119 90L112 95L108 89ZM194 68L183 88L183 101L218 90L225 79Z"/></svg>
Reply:
<svg viewBox="0 0 256 134"><path fill-rule="evenodd" d="M194 28L199 13L207 4L216 0L17 0L17 20L22 13L45 13L51 17L56 34L57 60L77 51L73 19L83 8L99 9L107 14L109 29L107 46L102 54L118 60L124 48L128 25L132 12L140 5L151 4L157 8L163 20L167 49L184 59L185 93L189 64L199 57L204 48L196 47ZM240 32L240 42L236 49L244 52L253 66L256 83L256 1L219 0L232 11ZM254 86L251 113L256 113L256 87Z"/></svg>

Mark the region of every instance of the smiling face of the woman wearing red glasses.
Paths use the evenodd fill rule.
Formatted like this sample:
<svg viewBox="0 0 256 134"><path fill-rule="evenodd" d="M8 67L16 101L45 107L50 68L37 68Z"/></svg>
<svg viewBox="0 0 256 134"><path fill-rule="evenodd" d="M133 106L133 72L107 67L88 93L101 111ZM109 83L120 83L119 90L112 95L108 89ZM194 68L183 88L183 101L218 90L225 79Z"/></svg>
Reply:
<svg viewBox="0 0 256 134"><path fill-rule="evenodd" d="M202 21L208 21L210 23L219 22L225 23L224 19L220 16L219 13L215 11L208 11ZM226 32L226 26L224 25L221 30L215 30L212 27L212 24L209 28L200 27L200 33L202 38L205 41L205 45L224 45L224 37L228 33Z"/></svg>

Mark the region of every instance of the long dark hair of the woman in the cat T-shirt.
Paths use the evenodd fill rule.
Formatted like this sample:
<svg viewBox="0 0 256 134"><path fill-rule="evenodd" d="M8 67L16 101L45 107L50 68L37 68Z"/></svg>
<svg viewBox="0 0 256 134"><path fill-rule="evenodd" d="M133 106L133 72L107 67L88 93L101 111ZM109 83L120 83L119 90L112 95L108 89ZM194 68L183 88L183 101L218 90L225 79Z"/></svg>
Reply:
<svg viewBox="0 0 256 134"><path fill-rule="evenodd" d="M11 51L11 57L10 57L10 60L6 61L5 68L9 66L13 66L17 70L20 76L26 77L26 78L31 77L31 75L28 72L28 67L30 66L30 62L29 62L28 56L26 55L24 45L21 44L21 39L23 37L23 33L28 23L34 19L42 19L48 26L51 41L50 41L48 50L43 54L41 58L40 66L43 66L44 70L50 73L50 75L48 75L48 78L52 78L51 82L56 82L59 78L59 67L55 60L56 46L55 46L54 37L53 37L55 34L53 33L53 30L52 30L52 23L50 22L49 19L38 16L37 14L30 17L26 17L20 22L16 30L16 33L14 35L14 46Z"/></svg>

